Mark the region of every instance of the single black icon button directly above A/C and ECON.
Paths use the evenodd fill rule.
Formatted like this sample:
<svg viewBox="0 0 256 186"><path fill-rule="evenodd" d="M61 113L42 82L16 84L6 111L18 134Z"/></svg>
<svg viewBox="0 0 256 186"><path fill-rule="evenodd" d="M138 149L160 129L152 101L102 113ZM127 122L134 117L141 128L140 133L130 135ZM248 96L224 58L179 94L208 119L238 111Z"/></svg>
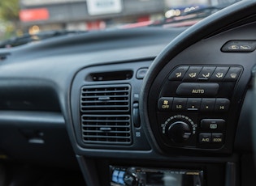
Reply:
<svg viewBox="0 0 256 186"><path fill-rule="evenodd" d="M201 120L201 128L206 130L219 130L224 129L225 120L223 119L203 119Z"/></svg>

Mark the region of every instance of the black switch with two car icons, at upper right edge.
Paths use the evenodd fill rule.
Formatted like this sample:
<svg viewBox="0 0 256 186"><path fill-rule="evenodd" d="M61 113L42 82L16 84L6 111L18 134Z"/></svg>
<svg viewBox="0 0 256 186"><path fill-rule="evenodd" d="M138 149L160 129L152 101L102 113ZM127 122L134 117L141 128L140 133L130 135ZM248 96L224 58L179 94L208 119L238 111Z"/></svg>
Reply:
<svg viewBox="0 0 256 186"><path fill-rule="evenodd" d="M250 53L256 49L256 40L230 40L224 44L224 53Z"/></svg>

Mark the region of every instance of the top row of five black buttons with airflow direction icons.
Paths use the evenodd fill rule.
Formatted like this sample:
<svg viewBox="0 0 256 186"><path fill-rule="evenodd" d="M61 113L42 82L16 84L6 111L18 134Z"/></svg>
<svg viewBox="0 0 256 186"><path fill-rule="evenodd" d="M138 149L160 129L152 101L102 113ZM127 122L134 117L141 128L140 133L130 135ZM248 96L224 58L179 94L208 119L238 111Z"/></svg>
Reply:
<svg viewBox="0 0 256 186"><path fill-rule="evenodd" d="M228 66L179 66L169 76L171 81L234 82L241 74L241 67Z"/></svg>

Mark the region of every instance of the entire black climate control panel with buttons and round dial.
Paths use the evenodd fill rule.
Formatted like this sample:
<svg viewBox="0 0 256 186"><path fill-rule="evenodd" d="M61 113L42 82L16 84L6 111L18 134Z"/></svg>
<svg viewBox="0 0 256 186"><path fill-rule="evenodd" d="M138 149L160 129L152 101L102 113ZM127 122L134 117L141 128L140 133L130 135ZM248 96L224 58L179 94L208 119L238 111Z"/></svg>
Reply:
<svg viewBox="0 0 256 186"><path fill-rule="evenodd" d="M157 101L156 135L165 146L219 149L225 144L241 66L177 66Z"/></svg>

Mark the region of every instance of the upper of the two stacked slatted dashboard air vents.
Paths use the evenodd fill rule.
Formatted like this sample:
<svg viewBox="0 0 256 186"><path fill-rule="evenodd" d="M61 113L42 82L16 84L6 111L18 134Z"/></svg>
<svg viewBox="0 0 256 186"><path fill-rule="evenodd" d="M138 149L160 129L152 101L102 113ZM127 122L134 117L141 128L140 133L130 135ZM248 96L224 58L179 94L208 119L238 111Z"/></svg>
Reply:
<svg viewBox="0 0 256 186"><path fill-rule="evenodd" d="M128 112L130 86L83 87L81 112Z"/></svg>

